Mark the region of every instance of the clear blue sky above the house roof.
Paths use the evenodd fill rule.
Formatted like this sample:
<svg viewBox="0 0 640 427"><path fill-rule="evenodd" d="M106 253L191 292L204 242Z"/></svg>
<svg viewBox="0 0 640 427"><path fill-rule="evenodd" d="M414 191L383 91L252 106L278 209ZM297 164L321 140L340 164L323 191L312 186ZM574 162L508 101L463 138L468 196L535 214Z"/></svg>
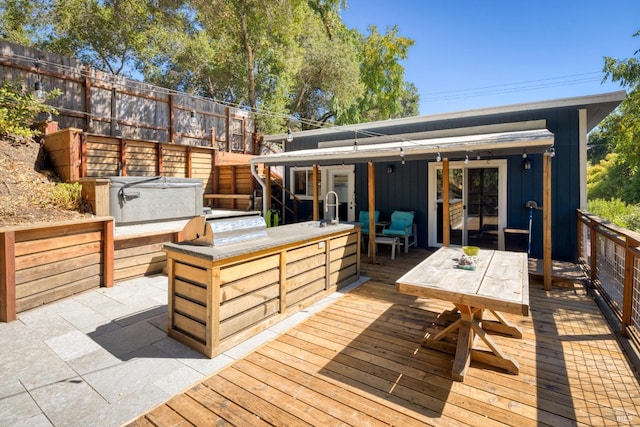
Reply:
<svg viewBox="0 0 640 427"><path fill-rule="evenodd" d="M620 90L603 57L640 49L640 1L347 0L342 19L367 34L397 25L412 38L405 79L420 114Z"/></svg>

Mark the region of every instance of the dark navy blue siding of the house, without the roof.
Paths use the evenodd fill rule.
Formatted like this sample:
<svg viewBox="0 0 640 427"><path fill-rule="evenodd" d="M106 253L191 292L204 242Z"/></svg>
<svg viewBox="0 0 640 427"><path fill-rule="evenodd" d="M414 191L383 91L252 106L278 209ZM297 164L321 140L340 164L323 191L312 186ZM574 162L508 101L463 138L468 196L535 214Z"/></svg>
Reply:
<svg viewBox="0 0 640 427"><path fill-rule="evenodd" d="M552 253L553 258L575 261L577 253L576 209L580 206L580 164L579 164L579 120L578 109L554 109L500 114L494 116L458 118L408 125L406 127L380 128L381 134L421 132L457 127L480 126L527 120L547 121L547 128L555 135L556 156L552 160ZM343 133L308 138L296 138L287 145L287 151L317 148L321 141L345 139ZM366 138L359 138L365 143ZM528 229L529 209L525 204L535 201L542 207L542 154L531 154L532 168L522 169L522 156L495 156L507 159L507 227ZM347 160L347 159L345 159ZM451 159L461 160L461 159ZM387 166L393 166L393 173L387 173ZM428 163L426 160L379 162L376 164L376 208L381 219L389 218L393 210L413 210L418 224L418 246L426 247L428 242ZM357 164L355 168L356 218L360 210L367 209L367 165ZM308 203L311 213L311 203ZM299 207L300 209L300 207ZM302 207L306 210L306 205ZM302 216L304 218L304 215ZM533 211L531 256L542 258L542 210Z"/></svg>

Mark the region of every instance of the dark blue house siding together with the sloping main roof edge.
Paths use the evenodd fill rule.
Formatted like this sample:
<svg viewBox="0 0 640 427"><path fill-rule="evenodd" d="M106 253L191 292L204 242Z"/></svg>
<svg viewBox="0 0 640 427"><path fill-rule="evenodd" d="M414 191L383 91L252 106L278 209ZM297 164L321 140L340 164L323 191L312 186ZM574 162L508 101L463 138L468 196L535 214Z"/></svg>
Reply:
<svg viewBox="0 0 640 427"><path fill-rule="evenodd" d="M358 142L367 143L369 135L410 135L427 131L468 128L473 126L502 125L515 122L545 120L547 128L555 139L555 157L552 158L552 255L554 259L575 261L577 252L576 209L580 207L580 115L585 109L586 130L593 129L607 114L624 100L623 91L563 100L543 101L506 107L490 108L462 113L424 116L408 119L388 120L371 124L360 124L353 128L332 128L327 130L301 132L294 135L294 141L286 145L287 151L318 148L321 142L340 141L349 144L356 136ZM533 150L532 150L533 151ZM522 155L500 155L494 153L494 159L507 160L507 223L510 228L527 229L530 210L525 206L529 200L542 207L543 191L543 154L527 153L532 160L530 170L523 170ZM392 159L393 160L393 159ZM402 165L397 161L378 160L376 171L376 208L382 218L388 218L395 209L413 210L418 224L418 245L425 247L429 241L427 224L427 197L429 183L428 161L409 160ZM462 160L450 158L451 161ZM344 159L349 162L348 158ZM393 173L387 173L387 167L393 166ZM366 163L355 166L355 198L357 212L368 208L368 183ZM305 203L306 205L306 203ZM308 203L309 215L311 203ZM307 212L306 208L303 209ZM301 216L304 218L304 216ZM542 210L533 211L532 252L536 258L542 257L543 224Z"/></svg>

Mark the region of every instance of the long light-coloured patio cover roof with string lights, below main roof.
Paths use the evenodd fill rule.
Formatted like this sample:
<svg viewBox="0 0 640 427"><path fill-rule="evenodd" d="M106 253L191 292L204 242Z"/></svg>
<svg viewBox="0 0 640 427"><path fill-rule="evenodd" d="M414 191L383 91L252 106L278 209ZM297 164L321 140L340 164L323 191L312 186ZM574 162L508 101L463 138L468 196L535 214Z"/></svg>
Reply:
<svg viewBox="0 0 640 427"><path fill-rule="evenodd" d="M466 155L488 158L522 154L525 150L529 154L544 152L553 144L552 132L547 129L535 129L289 151L256 156L250 162L264 163L266 166L335 165L400 161L402 157L405 160L435 160L437 153L443 158L452 159L464 158Z"/></svg>

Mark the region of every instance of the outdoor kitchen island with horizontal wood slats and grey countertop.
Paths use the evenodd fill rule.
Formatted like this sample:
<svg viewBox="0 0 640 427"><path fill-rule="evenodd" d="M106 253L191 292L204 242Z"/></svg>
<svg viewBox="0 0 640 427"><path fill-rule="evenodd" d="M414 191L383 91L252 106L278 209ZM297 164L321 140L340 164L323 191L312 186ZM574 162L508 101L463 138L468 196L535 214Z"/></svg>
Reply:
<svg viewBox="0 0 640 427"><path fill-rule="evenodd" d="M360 276L360 227L304 222L223 246L167 243L168 334L213 357Z"/></svg>

